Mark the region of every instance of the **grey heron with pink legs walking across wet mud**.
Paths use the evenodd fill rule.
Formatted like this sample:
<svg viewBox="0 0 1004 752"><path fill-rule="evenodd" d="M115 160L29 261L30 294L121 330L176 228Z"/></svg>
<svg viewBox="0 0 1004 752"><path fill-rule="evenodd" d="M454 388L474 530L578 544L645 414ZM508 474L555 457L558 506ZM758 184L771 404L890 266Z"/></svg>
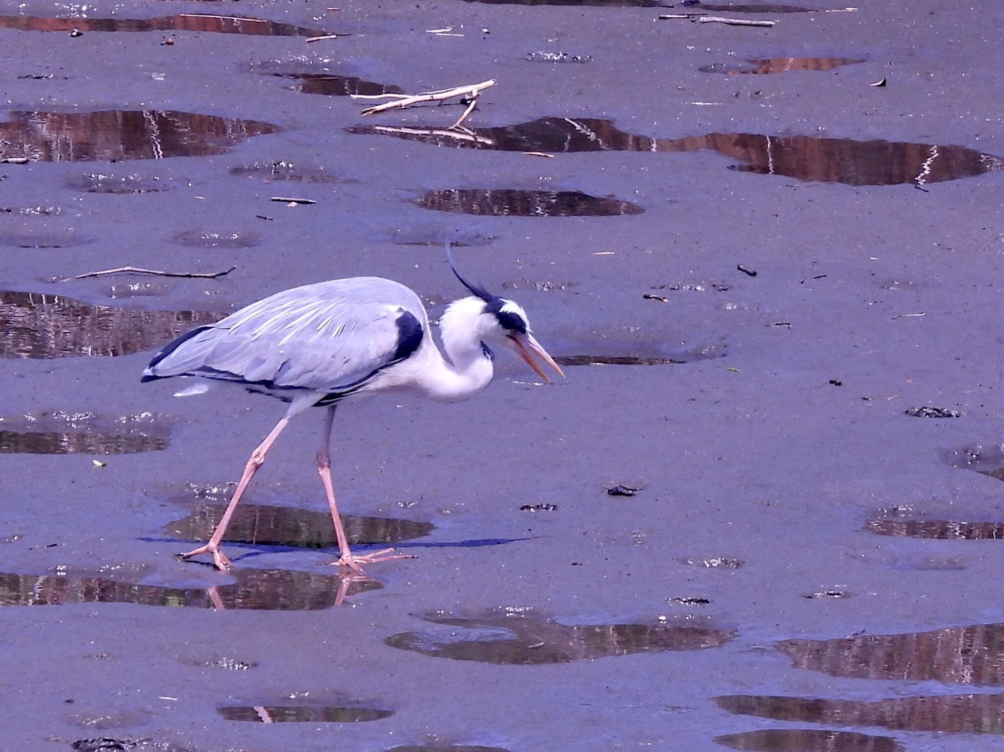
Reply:
<svg viewBox="0 0 1004 752"><path fill-rule="evenodd" d="M469 399L492 380L493 347L512 351L548 383L534 355L564 376L530 333L526 312L519 305L467 282L452 258L450 266L471 295L451 303L440 319L440 338L449 360L432 338L419 296L380 277L331 280L275 293L181 335L154 356L143 381L201 376L289 403L285 415L251 453L212 537L183 553L183 558L211 553L217 569L232 567L220 542L234 510L276 438L308 407L327 407L317 471L334 521L339 551L335 563L361 572L364 563L404 557L394 548L356 555L348 547L331 481L335 407L383 392L418 393L441 402Z"/></svg>

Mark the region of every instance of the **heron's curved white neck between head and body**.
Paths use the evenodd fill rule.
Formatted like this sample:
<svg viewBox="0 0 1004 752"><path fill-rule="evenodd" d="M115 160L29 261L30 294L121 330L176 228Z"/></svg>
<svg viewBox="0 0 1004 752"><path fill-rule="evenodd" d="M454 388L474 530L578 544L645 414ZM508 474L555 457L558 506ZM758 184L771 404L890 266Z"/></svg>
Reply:
<svg viewBox="0 0 1004 752"><path fill-rule="evenodd" d="M481 342L479 317L484 302L464 298L451 303L440 319L443 349L448 363L430 340L426 372L419 385L427 397L442 402L470 399L489 383L495 374L492 359L485 354Z"/></svg>

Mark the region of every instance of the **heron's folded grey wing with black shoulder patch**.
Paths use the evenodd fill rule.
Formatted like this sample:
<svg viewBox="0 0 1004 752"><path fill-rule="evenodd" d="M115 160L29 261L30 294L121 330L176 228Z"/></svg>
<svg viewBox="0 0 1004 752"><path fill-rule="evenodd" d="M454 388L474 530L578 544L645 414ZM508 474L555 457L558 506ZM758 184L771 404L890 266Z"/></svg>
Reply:
<svg viewBox="0 0 1004 752"><path fill-rule="evenodd" d="M403 285L378 277L321 282L182 335L155 356L144 380L193 375L337 391L411 355L428 329L422 302Z"/></svg>

